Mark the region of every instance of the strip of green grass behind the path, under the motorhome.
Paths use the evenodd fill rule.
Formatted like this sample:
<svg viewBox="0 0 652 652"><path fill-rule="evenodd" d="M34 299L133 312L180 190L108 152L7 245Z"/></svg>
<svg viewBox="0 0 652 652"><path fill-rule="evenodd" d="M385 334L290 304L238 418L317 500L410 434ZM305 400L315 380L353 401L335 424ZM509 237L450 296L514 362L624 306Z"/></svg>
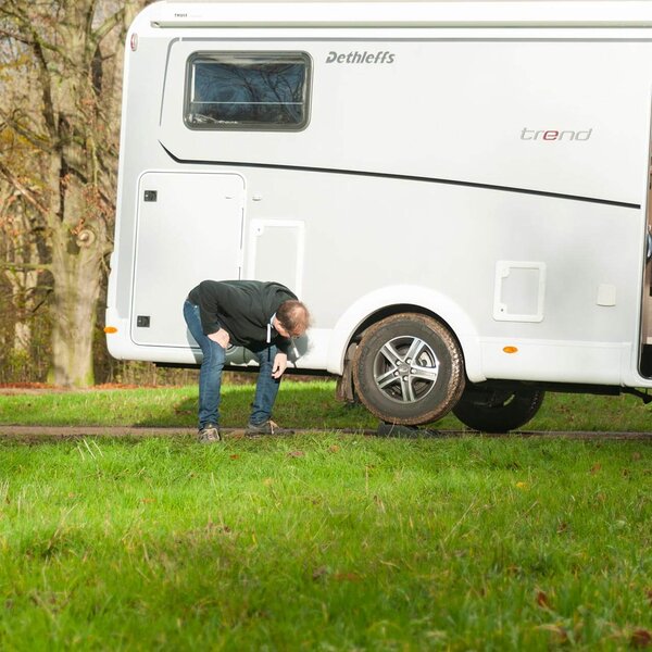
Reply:
<svg viewBox="0 0 652 652"><path fill-rule="evenodd" d="M253 400L253 385L227 385L222 400L222 425L243 427ZM0 396L0 424L61 426L193 427L197 387L43 392ZM317 429L368 429L377 419L362 406L335 399L335 383L287 380L274 414L283 426ZM465 429L452 414L434 425ZM605 432L652 429L652 404L631 396L597 397L548 393L527 430L587 430Z"/></svg>

